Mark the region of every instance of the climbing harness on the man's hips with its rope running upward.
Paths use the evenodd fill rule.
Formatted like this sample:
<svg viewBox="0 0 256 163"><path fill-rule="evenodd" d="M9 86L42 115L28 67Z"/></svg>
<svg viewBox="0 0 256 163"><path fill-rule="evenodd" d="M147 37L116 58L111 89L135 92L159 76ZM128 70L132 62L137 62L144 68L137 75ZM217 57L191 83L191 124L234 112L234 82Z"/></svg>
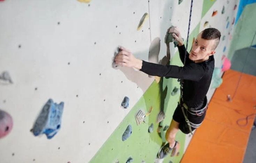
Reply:
<svg viewBox="0 0 256 163"><path fill-rule="evenodd" d="M186 44L186 49L188 49L188 38L189 38L189 30L190 30L190 22L191 22L191 14L192 14L192 7L193 7L193 0L191 0L191 6L190 6L190 15L189 15L189 23L188 23L188 36L187 36L187 44ZM186 56L187 56L187 50L185 52L185 56L184 56L184 66L186 63ZM184 102L183 102L183 80L179 79L178 82L180 82L180 90L181 90L181 97L180 97L180 101L179 101L179 105L181 107L182 113L185 117L185 120L188 124L189 127L189 131L191 133L191 135L193 135L192 133L192 129L193 128L198 128L201 124L195 124L192 123L188 120L188 113L192 114L192 115L197 115L197 116L201 116L204 114L204 112L206 111L206 109L208 108L208 101L207 98L205 97L204 103L202 105L204 105L204 107L202 108L202 106L199 106L198 108L202 108L200 110L197 110L198 108L189 108Z"/></svg>

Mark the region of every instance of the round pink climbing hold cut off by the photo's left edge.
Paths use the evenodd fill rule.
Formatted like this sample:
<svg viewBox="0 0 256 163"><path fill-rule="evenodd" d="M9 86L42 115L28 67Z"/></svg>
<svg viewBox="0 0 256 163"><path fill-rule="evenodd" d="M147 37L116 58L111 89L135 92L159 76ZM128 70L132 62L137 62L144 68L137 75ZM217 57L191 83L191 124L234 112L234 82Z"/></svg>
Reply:
<svg viewBox="0 0 256 163"><path fill-rule="evenodd" d="M13 119L7 112L0 110L0 138L9 134L13 128Z"/></svg>

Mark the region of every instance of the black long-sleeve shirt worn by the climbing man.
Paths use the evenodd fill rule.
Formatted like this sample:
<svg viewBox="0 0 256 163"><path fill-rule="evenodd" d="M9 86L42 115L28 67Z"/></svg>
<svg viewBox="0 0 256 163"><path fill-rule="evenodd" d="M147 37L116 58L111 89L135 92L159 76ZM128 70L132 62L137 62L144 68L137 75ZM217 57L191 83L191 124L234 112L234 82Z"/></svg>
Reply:
<svg viewBox="0 0 256 163"><path fill-rule="evenodd" d="M184 63L185 45L178 45L178 49L180 59ZM207 61L194 63L188 55L189 53L187 53L186 64L183 67L158 65L143 60L140 70L152 76L183 79L183 101L189 107L196 108L203 103L208 92L214 69L214 58L211 55Z"/></svg>

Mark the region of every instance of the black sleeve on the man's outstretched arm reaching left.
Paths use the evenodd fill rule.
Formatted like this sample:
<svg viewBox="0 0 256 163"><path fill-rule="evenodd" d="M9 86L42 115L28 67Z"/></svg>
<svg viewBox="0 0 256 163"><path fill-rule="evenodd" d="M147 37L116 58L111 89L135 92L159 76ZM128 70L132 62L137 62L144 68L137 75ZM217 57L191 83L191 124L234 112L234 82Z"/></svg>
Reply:
<svg viewBox="0 0 256 163"><path fill-rule="evenodd" d="M203 77L205 69L203 66L196 63L190 63L186 64L186 66L179 67L174 65L164 66L142 61L142 68L140 71L152 76L166 76L177 79L199 81Z"/></svg>

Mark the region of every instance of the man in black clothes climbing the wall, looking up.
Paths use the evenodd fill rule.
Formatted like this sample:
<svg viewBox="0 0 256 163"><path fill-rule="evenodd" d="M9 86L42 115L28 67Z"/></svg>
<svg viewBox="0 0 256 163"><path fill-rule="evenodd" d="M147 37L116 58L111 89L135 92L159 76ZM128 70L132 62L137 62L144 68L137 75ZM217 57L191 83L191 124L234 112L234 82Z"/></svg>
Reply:
<svg viewBox="0 0 256 163"><path fill-rule="evenodd" d="M179 29L171 27L168 33L172 34L178 42L180 59L184 63L186 48ZM174 111L170 127L166 131L167 143L158 152L159 158L164 158L169 153L172 153L171 156L177 155L180 144L175 141L175 135L178 130L189 134L204 120L208 105L206 93L214 69L213 54L219 44L220 36L220 32L215 28L207 28L200 32L190 53L187 52L188 57L183 67L149 63L135 58L129 50L120 47L115 57L116 64L134 67L152 76L178 78L182 81L180 102Z"/></svg>

